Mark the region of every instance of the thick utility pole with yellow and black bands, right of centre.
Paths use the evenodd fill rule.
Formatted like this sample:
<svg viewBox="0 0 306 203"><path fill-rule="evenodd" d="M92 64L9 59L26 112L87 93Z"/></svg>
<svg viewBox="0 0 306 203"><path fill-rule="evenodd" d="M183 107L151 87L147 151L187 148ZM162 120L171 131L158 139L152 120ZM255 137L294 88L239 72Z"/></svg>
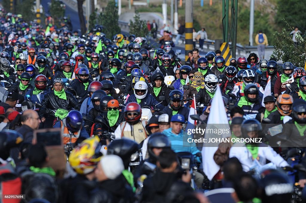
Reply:
<svg viewBox="0 0 306 203"><path fill-rule="evenodd" d="M192 28L193 28L193 0L185 4L185 61L188 59L188 52L192 51Z"/></svg>

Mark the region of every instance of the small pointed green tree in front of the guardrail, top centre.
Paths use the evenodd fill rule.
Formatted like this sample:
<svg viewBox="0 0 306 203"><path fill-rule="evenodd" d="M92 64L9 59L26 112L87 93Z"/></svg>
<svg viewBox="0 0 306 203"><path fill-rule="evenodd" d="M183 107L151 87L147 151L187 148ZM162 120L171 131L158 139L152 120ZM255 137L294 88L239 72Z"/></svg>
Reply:
<svg viewBox="0 0 306 203"><path fill-rule="evenodd" d="M139 12L135 9L134 20L130 20L130 34L135 34L137 37L145 37L148 33L147 22L140 20Z"/></svg>

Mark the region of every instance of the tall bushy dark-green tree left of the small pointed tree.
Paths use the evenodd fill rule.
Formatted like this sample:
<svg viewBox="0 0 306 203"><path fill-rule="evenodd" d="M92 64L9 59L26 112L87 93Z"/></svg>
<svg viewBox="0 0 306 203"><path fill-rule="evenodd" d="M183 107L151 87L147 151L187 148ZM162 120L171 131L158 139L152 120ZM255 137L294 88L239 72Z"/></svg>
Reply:
<svg viewBox="0 0 306 203"><path fill-rule="evenodd" d="M118 7L114 0L110 0L103 10L103 13L100 13L98 20L99 24L102 24L105 28L103 33L106 34L107 38L112 38L115 34L120 33L118 19Z"/></svg>

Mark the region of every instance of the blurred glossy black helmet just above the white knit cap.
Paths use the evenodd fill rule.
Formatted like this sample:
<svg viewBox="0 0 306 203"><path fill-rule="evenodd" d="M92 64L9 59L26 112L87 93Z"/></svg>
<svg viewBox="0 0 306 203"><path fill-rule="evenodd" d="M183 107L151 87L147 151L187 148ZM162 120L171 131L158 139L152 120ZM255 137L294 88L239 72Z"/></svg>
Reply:
<svg viewBox="0 0 306 203"><path fill-rule="evenodd" d="M129 167L131 159L133 159L134 161L137 158L138 150L138 143L125 138L120 140L114 140L107 146L107 154L115 154L121 157L125 169Z"/></svg>

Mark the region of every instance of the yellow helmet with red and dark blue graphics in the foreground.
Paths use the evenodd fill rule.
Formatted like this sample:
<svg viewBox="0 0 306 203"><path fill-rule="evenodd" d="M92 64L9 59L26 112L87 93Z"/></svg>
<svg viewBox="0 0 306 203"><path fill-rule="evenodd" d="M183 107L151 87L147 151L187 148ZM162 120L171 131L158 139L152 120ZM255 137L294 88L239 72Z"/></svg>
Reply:
<svg viewBox="0 0 306 203"><path fill-rule="evenodd" d="M102 156L101 147L98 136L87 138L72 150L68 158L69 164L78 174L92 172Z"/></svg>

